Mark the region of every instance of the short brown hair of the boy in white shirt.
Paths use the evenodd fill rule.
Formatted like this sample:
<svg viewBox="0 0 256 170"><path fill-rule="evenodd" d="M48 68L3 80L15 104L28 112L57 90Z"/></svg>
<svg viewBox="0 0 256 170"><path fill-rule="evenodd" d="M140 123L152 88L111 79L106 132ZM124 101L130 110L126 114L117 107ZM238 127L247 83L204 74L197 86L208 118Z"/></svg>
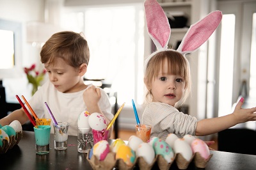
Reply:
<svg viewBox="0 0 256 170"><path fill-rule="evenodd" d="M55 58L62 58L68 65L79 68L83 63L88 65L90 50L87 41L79 33L62 31L45 42L40 56L42 63L54 65Z"/></svg>

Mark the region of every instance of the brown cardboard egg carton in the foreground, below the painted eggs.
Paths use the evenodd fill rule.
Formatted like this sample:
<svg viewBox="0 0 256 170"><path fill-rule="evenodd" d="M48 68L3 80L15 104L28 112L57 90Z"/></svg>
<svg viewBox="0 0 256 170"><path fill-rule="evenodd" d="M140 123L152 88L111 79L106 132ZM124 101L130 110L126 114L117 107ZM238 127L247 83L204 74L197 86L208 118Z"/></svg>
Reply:
<svg viewBox="0 0 256 170"><path fill-rule="evenodd" d="M205 168L205 166L207 165L207 162L209 162L209 160L212 157L212 154L211 154L209 158L205 160L205 158L202 158L200 153L197 152L193 155L191 160L187 161L180 153L177 153L174 156L174 160L168 163L163 158L162 155L156 155L156 157L154 158L151 164L147 164L147 162L145 162L143 157L137 157L132 166L127 166L124 160L122 159L116 160L115 153L113 152L109 152L104 160L98 160L97 157L95 157L95 155L92 155L92 157L89 159L89 153L90 151L88 152L86 159L88 160L88 162L90 163L90 165L94 170L105 170L105 169L110 170L110 169L113 169L114 167L116 169L130 170L130 169L133 169L134 166L140 167L141 170L148 170L148 169L152 169L152 167L155 164L157 164L159 169L162 170L162 169L170 169L174 161L176 162L179 169L187 169L189 164L192 161L194 161L194 164L196 167Z"/></svg>

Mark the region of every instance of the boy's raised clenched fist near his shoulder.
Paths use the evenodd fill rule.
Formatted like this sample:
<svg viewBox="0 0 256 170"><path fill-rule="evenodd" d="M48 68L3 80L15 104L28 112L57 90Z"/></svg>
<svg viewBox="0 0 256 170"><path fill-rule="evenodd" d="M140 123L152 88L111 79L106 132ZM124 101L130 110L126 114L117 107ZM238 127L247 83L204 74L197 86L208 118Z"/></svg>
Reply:
<svg viewBox="0 0 256 170"><path fill-rule="evenodd" d="M100 89L96 88L95 86L89 86L84 90L83 99L87 107L98 105L100 97L101 97Z"/></svg>

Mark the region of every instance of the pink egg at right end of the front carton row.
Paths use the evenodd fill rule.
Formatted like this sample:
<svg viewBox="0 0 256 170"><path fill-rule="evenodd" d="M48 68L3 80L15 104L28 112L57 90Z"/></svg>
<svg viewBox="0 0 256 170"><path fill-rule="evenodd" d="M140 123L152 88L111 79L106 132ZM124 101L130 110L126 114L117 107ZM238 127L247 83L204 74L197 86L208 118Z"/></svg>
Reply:
<svg viewBox="0 0 256 170"><path fill-rule="evenodd" d="M210 150L207 144L201 139L195 139L191 143L193 153L200 153L201 157L207 159L210 156Z"/></svg>

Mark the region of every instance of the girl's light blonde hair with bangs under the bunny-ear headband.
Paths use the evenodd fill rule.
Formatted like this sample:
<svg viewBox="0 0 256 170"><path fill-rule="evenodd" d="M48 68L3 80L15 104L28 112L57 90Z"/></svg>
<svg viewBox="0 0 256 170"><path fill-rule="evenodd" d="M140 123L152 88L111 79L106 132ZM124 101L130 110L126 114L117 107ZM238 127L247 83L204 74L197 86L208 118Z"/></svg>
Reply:
<svg viewBox="0 0 256 170"><path fill-rule="evenodd" d="M150 59L150 61L148 61L144 74L144 83L147 88L147 91L145 92L145 104L152 102L150 87L152 81L156 79L157 74L160 72L160 68L163 68L164 59L167 59L168 61L168 73L180 75L184 77L186 81L184 95L181 100L175 104L175 107L179 107L189 96L191 90L191 76L188 59L175 50L164 50L162 52L158 52Z"/></svg>

